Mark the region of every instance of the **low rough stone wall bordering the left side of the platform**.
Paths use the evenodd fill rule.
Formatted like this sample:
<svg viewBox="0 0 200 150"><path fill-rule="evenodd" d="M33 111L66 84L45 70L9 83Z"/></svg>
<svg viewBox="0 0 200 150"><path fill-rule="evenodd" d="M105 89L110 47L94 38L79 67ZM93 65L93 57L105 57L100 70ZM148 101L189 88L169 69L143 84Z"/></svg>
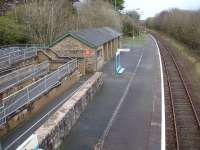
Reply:
<svg viewBox="0 0 200 150"><path fill-rule="evenodd" d="M63 138L69 134L71 128L102 84L102 73L95 73L35 131L40 148L59 149Z"/></svg>

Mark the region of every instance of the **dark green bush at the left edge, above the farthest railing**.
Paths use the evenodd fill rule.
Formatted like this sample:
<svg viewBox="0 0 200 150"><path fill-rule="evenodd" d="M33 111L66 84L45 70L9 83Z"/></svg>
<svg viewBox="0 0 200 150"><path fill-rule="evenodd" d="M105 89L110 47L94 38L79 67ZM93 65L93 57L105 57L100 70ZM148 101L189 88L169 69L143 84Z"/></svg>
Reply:
<svg viewBox="0 0 200 150"><path fill-rule="evenodd" d="M25 26L19 24L14 18L0 17L0 45L26 43Z"/></svg>

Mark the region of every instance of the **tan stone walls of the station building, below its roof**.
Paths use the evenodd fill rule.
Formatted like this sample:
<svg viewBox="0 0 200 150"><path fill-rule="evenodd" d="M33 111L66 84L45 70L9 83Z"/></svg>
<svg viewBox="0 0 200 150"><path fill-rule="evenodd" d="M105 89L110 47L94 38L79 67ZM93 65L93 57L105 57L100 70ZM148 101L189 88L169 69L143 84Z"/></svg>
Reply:
<svg viewBox="0 0 200 150"><path fill-rule="evenodd" d="M77 39L69 36L54 45L51 49L60 56L84 59L85 72L95 72L114 57L120 46L119 38L108 41L97 49L93 49ZM99 52L100 51L100 52ZM81 72L84 72L81 70Z"/></svg>

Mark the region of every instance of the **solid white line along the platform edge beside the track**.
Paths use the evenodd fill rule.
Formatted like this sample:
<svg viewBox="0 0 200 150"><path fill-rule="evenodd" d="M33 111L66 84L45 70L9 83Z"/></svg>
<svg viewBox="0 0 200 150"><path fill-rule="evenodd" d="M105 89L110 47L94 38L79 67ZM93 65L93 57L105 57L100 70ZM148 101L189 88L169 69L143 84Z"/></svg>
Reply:
<svg viewBox="0 0 200 150"><path fill-rule="evenodd" d="M160 48L154 36L150 35L153 41L156 43L156 47L158 50L159 60L160 60L160 71L161 71L161 99L162 99L162 121L161 121L161 150L166 149L166 133L165 133L165 96L164 96L164 78L163 78L163 66L162 66L162 59L160 54Z"/></svg>

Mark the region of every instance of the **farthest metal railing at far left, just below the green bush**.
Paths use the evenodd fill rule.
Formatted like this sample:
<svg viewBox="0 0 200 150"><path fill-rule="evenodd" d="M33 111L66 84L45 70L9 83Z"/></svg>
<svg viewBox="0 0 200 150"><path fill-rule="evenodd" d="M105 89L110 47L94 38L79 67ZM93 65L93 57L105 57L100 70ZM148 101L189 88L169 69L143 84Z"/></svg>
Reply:
<svg viewBox="0 0 200 150"><path fill-rule="evenodd" d="M0 70L10 67L19 61L37 56L37 50L36 47L0 49Z"/></svg>

